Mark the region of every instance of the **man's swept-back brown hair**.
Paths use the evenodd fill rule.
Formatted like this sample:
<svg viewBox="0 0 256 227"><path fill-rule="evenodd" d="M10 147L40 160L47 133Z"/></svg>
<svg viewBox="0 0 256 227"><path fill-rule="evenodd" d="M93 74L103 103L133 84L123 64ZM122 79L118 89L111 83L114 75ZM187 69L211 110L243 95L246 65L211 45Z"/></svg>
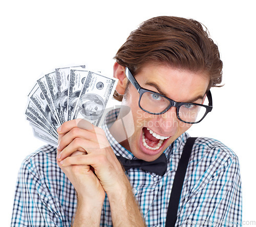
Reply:
<svg viewBox="0 0 256 227"><path fill-rule="evenodd" d="M196 20L181 17L148 19L131 32L114 59L129 67L134 76L150 62L204 72L210 77L210 89L222 81L222 61L217 45L203 27ZM115 92L115 99L121 101L122 97Z"/></svg>

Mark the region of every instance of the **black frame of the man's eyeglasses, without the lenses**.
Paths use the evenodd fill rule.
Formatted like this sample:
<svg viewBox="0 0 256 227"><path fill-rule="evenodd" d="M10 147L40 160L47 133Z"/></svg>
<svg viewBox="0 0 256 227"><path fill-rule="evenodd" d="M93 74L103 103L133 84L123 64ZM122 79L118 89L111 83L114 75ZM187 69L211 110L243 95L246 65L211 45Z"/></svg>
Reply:
<svg viewBox="0 0 256 227"><path fill-rule="evenodd" d="M212 96L211 96L211 93L210 93L210 90L206 93L206 96L208 98L208 101L209 101L209 105L203 105L203 104L199 104L199 103L189 103L189 102L176 102L172 99L169 99L168 97L160 94L160 93L157 93L157 92L153 92L153 90L148 90L146 88L143 88L139 85L139 83L137 82L137 80L135 79L135 77L133 76L133 74L131 73L131 71L129 70L128 67L125 67L125 74L126 74L126 77L127 79L129 79L129 81L134 85L134 87L137 89L138 93L140 94L140 98L139 98L139 107L147 112L147 113L151 113L152 115L162 115L163 113L165 113L166 111L168 111L171 107L176 107L177 108L177 118L184 122L184 123L188 123L188 124L197 124L199 122L201 122L205 116L207 115L208 112L210 112L212 110ZM147 111L146 109L143 109L140 105L140 100L141 100L141 97L142 95L145 93L145 92L151 92L151 93L154 93L154 94L157 94L165 99L167 99L170 104L166 107L166 109L164 109L163 111L159 112L159 113L154 113L154 112L150 112L150 111ZM180 119L180 116L179 116L179 109L182 105L186 105L186 104L191 104L191 105L198 105L198 106L203 106L206 108L206 111L204 113L204 116L202 117L202 119L200 121L197 121L197 122L186 122L186 121L183 121L182 119Z"/></svg>

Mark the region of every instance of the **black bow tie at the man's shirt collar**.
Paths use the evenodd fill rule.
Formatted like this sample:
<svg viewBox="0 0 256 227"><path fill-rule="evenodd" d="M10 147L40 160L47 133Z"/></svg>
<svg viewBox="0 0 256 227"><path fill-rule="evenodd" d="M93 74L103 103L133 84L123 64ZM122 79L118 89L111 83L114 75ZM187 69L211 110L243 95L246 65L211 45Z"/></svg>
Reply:
<svg viewBox="0 0 256 227"><path fill-rule="evenodd" d="M129 160L125 157L116 155L119 162L123 165L125 170L131 168L141 168L147 172L156 173L163 176L167 169L167 159L164 153L162 153L157 160L152 162L146 162L144 160Z"/></svg>

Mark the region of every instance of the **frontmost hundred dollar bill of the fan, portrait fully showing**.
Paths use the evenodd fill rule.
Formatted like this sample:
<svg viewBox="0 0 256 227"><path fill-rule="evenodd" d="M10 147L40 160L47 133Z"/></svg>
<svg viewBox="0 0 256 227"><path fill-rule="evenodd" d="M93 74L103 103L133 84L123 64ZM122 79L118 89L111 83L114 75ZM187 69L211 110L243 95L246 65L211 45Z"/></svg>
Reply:
<svg viewBox="0 0 256 227"><path fill-rule="evenodd" d="M83 83L73 119L83 118L99 126L104 109L111 100L117 79L89 72Z"/></svg>

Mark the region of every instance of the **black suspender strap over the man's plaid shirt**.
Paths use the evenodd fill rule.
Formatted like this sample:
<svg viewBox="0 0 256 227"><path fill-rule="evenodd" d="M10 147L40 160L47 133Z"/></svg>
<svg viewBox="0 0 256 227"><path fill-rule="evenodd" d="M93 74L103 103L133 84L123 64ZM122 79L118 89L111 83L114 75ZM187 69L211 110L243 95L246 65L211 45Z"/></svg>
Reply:
<svg viewBox="0 0 256 227"><path fill-rule="evenodd" d="M190 137L187 139L186 144L183 148L183 152L180 157L177 171L174 177L174 183L172 192L170 193L170 200L167 210L165 227L174 227L177 220L177 212L180 201L180 194L185 178L188 160L191 154L191 150L197 138Z"/></svg>

